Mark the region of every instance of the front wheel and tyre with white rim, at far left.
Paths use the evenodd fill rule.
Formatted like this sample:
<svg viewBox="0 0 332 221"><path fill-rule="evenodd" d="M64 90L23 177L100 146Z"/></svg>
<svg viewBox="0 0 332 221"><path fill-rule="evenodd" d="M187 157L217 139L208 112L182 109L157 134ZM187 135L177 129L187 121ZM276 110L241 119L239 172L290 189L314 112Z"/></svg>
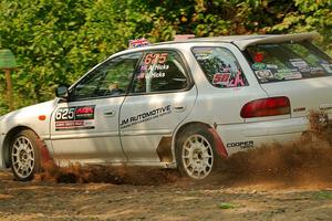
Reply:
<svg viewBox="0 0 332 221"><path fill-rule="evenodd" d="M41 170L41 139L29 129L18 133L10 143L11 170L19 181L33 179Z"/></svg>

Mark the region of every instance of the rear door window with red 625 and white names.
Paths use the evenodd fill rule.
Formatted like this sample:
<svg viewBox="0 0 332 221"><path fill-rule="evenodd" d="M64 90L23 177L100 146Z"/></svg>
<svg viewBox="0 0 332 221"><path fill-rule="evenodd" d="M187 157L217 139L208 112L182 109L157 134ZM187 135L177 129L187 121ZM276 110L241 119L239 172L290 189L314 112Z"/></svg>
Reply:
<svg viewBox="0 0 332 221"><path fill-rule="evenodd" d="M132 93L184 90L189 85L180 56L174 51L148 51L134 76Z"/></svg>

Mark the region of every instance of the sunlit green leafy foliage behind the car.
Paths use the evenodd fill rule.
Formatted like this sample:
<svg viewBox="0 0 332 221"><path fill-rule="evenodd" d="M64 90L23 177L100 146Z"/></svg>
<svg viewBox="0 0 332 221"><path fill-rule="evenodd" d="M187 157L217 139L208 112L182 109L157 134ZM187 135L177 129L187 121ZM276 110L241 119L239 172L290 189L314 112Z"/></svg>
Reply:
<svg viewBox="0 0 332 221"><path fill-rule="evenodd" d="M0 44L17 55L15 108L54 97L128 40L317 31L332 55L331 0L1 0ZM0 48L1 48L0 46ZM0 72L0 115L9 112Z"/></svg>

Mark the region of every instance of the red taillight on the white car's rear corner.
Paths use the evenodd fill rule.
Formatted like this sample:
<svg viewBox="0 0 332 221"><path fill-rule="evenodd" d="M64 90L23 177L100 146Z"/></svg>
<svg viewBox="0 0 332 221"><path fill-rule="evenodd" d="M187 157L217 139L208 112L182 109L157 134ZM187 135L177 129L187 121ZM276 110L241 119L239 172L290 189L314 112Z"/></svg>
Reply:
<svg viewBox="0 0 332 221"><path fill-rule="evenodd" d="M242 118L268 117L290 114L290 102L286 96L255 99L241 109Z"/></svg>

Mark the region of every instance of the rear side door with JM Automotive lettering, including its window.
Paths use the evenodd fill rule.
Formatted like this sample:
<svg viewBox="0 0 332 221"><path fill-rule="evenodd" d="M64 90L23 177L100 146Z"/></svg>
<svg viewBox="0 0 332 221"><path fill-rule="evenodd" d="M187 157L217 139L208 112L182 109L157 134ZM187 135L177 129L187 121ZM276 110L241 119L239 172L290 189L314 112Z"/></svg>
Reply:
<svg viewBox="0 0 332 221"><path fill-rule="evenodd" d="M172 133L190 113L196 95L177 51L146 51L120 114L121 141L128 160L170 162Z"/></svg>

